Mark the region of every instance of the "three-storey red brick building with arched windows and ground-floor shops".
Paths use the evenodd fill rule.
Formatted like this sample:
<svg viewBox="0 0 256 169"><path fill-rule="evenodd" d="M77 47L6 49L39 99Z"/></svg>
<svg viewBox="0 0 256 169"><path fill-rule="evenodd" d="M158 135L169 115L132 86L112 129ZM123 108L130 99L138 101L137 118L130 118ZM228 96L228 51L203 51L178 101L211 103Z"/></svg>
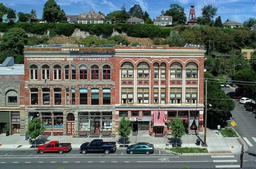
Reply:
<svg viewBox="0 0 256 169"><path fill-rule="evenodd" d="M203 119L204 50L199 47L25 47L25 126L39 116L46 134L163 134L176 115L188 129ZM184 124L185 125L185 124Z"/></svg>

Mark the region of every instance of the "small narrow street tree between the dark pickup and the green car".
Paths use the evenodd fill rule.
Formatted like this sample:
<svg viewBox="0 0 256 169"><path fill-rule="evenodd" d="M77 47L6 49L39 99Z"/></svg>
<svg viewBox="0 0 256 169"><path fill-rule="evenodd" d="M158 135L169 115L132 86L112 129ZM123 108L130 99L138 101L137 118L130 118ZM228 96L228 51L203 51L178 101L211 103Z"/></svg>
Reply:
<svg viewBox="0 0 256 169"><path fill-rule="evenodd" d="M118 125L118 134L123 137L123 146L124 146L124 140L130 135L131 133L131 127L130 127L131 121L129 119L125 119L125 115L123 114L119 125Z"/></svg>

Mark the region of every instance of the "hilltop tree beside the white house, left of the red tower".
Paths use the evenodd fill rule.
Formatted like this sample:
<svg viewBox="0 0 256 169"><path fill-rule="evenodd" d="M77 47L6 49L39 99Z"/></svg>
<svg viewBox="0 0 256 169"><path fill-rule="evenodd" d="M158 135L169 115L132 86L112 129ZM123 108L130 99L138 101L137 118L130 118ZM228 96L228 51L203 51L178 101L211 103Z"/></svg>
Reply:
<svg viewBox="0 0 256 169"><path fill-rule="evenodd" d="M170 9L167 10L164 15L172 16L174 25L185 24L187 20L184 8L178 4L170 4Z"/></svg>

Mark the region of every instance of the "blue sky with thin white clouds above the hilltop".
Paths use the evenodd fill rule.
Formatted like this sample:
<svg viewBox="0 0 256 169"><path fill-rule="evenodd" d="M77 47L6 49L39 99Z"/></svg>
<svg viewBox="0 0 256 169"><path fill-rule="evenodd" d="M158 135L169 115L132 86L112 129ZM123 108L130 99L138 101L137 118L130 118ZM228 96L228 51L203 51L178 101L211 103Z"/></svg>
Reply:
<svg viewBox="0 0 256 169"><path fill-rule="evenodd" d="M31 9L34 9L37 18L41 18L46 2L47 0L1 0L1 3L16 10L17 13L30 13ZM256 18L256 0L55 0L55 2L67 15L88 13L90 9L107 15L112 11L120 10L123 5L129 11L133 5L139 4L153 19L159 16L162 10L168 10L170 4L178 4L185 9L188 18L190 5L195 5L196 17L198 17L201 16L201 9L211 4L218 8L217 16L221 16L222 22L230 19L243 23L250 17Z"/></svg>

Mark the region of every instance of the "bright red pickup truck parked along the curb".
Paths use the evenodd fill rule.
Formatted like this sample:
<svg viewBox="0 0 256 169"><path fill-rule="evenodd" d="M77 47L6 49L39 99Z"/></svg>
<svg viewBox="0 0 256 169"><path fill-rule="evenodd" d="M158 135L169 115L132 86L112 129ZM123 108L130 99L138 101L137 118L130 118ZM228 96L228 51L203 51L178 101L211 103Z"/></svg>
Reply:
<svg viewBox="0 0 256 169"><path fill-rule="evenodd" d="M44 154L44 152L69 152L72 149L71 143L59 143L59 141L50 141L48 144L42 144L37 148L37 153Z"/></svg>

